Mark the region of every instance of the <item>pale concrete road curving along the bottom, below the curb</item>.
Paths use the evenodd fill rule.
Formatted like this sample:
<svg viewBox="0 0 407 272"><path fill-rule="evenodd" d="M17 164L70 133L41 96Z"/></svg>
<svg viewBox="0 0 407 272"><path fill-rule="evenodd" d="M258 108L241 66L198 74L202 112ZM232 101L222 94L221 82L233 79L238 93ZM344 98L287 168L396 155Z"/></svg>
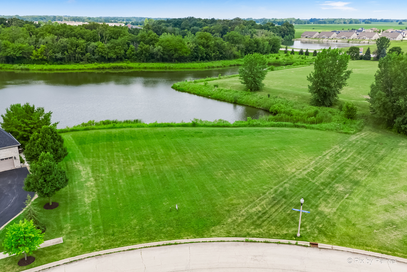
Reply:
<svg viewBox="0 0 407 272"><path fill-rule="evenodd" d="M363 260L363 263L362 263ZM351 252L276 243L210 242L144 248L91 257L46 272L406 272L407 263ZM350 262L350 263L349 263ZM381 263L382 262L382 263Z"/></svg>

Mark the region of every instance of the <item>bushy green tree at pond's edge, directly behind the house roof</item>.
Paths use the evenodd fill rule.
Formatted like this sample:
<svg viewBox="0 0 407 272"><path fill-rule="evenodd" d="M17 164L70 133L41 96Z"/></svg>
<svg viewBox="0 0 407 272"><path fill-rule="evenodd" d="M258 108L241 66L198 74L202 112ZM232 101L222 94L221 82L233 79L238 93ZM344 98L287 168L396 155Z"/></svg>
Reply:
<svg viewBox="0 0 407 272"><path fill-rule="evenodd" d="M35 108L28 102L24 105L11 104L9 108L6 108L6 113L1 115L3 122L0 122L0 125L24 148L31 135L39 133L43 126L51 125L51 115L52 112L45 113L44 108ZM58 122L52 126L56 127L57 124Z"/></svg>

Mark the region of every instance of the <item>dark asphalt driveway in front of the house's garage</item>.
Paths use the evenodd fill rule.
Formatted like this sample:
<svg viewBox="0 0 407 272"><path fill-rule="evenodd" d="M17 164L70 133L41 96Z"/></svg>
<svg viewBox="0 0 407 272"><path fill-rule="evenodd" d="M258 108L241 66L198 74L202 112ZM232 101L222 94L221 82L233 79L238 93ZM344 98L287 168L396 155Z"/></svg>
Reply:
<svg viewBox="0 0 407 272"><path fill-rule="evenodd" d="M22 188L28 174L26 167L0 172L0 227L21 212L27 194L34 197L34 192Z"/></svg>

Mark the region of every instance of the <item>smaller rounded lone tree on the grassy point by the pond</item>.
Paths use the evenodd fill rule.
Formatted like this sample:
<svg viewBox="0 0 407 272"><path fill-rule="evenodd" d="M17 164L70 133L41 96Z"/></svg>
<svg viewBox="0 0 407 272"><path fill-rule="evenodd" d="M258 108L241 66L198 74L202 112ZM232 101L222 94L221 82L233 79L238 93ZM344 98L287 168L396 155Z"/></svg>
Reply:
<svg viewBox="0 0 407 272"><path fill-rule="evenodd" d="M264 86L263 80L267 74L267 59L259 53L245 55L239 68L239 79L248 90L257 91Z"/></svg>

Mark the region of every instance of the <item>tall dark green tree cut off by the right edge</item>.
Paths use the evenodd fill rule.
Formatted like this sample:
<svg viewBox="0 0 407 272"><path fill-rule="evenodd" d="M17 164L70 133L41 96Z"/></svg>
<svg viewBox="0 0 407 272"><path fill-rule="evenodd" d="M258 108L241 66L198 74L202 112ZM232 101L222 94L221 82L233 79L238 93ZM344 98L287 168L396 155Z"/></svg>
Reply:
<svg viewBox="0 0 407 272"><path fill-rule="evenodd" d="M379 61L367 100L372 115L407 134L407 56L388 54Z"/></svg>

